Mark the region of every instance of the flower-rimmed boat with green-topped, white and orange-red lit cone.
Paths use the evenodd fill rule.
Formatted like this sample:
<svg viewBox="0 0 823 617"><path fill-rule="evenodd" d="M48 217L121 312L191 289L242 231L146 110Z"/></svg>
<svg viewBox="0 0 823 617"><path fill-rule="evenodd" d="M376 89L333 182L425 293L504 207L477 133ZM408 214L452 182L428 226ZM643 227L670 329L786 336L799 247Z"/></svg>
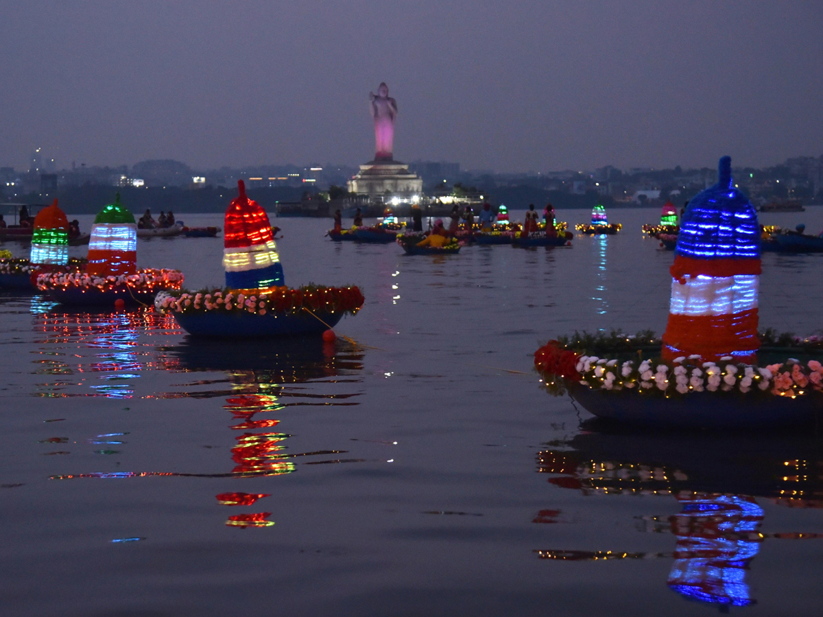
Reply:
<svg viewBox="0 0 823 617"><path fill-rule="evenodd" d="M119 193L95 217L86 269L47 271L36 279L37 289L55 301L78 305L151 304L159 291L182 284L178 270L137 270L137 225Z"/></svg>

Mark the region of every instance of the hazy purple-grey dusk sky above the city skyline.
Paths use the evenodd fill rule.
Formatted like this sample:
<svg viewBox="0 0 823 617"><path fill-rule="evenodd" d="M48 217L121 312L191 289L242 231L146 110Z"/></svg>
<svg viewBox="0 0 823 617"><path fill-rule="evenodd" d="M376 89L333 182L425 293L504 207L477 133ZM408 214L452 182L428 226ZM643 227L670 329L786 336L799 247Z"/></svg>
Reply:
<svg viewBox="0 0 823 617"><path fill-rule="evenodd" d="M823 2L0 0L0 165L374 154L547 171L823 154Z"/></svg>

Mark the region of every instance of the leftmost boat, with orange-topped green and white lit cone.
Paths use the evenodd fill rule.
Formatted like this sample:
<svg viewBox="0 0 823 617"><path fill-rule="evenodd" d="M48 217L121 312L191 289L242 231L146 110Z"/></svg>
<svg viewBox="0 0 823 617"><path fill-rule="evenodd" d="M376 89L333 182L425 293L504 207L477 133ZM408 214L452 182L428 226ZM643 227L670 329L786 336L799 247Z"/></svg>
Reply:
<svg viewBox="0 0 823 617"><path fill-rule="evenodd" d="M56 199L35 216L29 259L0 253L0 288L35 290L39 274L77 271L86 262L68 257L68 220Z"/></svg>

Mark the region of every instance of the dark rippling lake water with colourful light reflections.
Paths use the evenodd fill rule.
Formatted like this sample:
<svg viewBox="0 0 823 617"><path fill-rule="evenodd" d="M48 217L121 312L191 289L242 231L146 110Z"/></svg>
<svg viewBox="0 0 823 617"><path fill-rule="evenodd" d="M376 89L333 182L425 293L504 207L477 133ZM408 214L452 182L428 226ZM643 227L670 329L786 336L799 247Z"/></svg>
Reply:
<svg viewBox="0 0 823 617"><path fill-rule="evenodd" d="M665 326L658 211L609 214L571 248L444 257L272 220L287 284L360 286L355 345L3 293L2 614L816 614L821 439L603 432L532 372L551 337ZM798 222L823 208L761 217ZM137 250L222 285L221 238ZM761 327L820 332L823 255L763 262Z"/></svg>

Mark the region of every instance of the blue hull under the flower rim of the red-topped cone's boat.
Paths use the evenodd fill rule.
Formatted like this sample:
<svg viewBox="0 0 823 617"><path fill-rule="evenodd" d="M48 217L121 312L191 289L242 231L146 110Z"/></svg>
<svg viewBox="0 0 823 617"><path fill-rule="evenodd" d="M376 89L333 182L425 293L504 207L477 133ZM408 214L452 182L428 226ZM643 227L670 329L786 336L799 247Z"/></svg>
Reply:
<svg viewBox="0 0 823 617"><path fill-rule="evenodd" d="M258 315L208 311L207 313L171 314L174 315L179 326L191 336L205 338L258 338L319 334L335 326L342 318L342 313L315 313L317 318L310 313ZM325 323L319 321L318 318Z"/></svg>

